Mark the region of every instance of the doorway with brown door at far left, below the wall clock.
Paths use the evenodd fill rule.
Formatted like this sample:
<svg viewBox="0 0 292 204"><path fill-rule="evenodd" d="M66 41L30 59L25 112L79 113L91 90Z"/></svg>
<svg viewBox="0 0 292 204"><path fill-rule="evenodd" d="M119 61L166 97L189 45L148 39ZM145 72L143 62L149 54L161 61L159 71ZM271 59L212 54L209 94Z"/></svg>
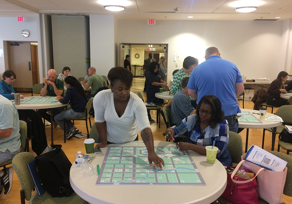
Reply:
<svg viewBox="0 0 292 204"><path fill-rule="evenodd" d="M38 43L28 41L6 41L7 55L4 57L5 70L16 75L13 88L16 92L31 92L39 83Z"/></svg>

